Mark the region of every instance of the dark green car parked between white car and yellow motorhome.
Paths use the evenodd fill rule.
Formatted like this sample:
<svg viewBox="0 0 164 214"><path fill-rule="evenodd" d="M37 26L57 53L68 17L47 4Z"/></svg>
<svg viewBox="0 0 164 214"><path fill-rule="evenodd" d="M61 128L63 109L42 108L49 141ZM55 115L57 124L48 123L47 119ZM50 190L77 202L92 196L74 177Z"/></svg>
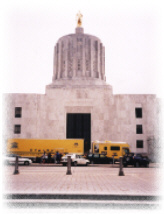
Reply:
<svg viewBox="0 0 164 214"><path fill-rule="evenodd" d="M103 154L88 154L87 159L91 164L109 164L112 163L111 158L106 157Z"/></svg>

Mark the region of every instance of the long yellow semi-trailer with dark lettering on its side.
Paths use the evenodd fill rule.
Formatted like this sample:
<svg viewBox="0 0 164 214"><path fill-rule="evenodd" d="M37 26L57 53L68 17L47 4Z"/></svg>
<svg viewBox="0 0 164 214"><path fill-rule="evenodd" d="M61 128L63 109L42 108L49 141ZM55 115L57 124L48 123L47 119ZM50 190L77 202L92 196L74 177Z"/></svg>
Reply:
<svg viewBox="0 0 164 214"><path fill-rule="evenodd" d="M9 139L7 142L7 154L16 154L22 157L31 158L35 161L44 153L51 155L56 152L84 154L83 139Z"/></svg>

